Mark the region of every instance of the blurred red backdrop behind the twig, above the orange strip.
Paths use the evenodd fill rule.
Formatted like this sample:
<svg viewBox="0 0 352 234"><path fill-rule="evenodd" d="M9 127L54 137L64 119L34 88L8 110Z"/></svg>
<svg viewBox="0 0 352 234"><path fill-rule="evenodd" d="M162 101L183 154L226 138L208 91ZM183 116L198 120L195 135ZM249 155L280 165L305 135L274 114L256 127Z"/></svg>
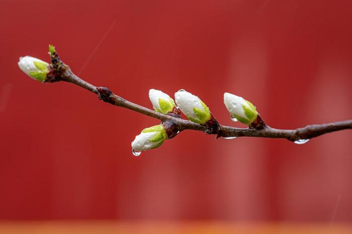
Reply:
<svg viewBox="0 0 352 234"><path fill-rule="evenodd" d="M352 221L352 135L296 145L185 131L133 157L159 122L20 56L71 69L151 107L150 88L197 94L220 123L224 92L277 128L352 116L351 1L1 1L0 218Z"/></svg>

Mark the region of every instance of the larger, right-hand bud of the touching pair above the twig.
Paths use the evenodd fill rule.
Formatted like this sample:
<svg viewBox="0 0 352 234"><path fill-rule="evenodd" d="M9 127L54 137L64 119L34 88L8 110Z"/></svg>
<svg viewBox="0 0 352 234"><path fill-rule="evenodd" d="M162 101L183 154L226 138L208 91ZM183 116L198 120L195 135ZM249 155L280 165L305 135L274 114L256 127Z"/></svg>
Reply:
<svg viewBox="0 0 352 234"><path fill-rule="evenodd" d="M192 122L205 124L211 118L207 105L205 105L199 97L185 90L180 90L175 93L175 102Z"/></svg>

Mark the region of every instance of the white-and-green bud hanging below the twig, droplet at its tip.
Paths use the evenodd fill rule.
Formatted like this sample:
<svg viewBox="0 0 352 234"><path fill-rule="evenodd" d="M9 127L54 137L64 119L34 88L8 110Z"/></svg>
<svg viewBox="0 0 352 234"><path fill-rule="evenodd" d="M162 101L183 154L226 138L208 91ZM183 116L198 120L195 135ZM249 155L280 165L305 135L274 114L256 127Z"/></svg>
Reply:
<svg viewBox="0 0 352 234"><path fill-rule="evenodd" d="M136 136L132 141L132 149L136 151L144 151L159 147L164 140L167 139L167 134L164 127L159 124L142 130L141 134Z"/></svg>

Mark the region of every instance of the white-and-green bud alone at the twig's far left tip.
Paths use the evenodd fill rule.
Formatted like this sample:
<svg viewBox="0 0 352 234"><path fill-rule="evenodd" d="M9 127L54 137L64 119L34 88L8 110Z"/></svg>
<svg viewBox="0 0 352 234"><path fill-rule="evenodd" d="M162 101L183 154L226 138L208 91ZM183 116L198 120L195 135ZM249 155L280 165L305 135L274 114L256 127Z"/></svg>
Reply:
<svg viewBox="0 0 352 234"><path fill-rule="evenodd" d="M49 64L31 56L21 57L18 62L20 69L34 80L44 82L48 74Z"/></svg>

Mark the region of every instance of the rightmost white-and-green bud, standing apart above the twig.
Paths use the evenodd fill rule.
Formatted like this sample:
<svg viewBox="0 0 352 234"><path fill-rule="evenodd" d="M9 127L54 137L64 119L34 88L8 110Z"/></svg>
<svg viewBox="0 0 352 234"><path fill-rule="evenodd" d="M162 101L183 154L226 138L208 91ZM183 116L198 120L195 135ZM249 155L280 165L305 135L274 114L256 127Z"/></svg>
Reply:
<svg viewBox="0 0 352 234"><path fill-rule="evenodd" d="M258 116L255 106L242 97L224 93L224 103L231 118L236 118L241 123L250 125Z"/></svg>

